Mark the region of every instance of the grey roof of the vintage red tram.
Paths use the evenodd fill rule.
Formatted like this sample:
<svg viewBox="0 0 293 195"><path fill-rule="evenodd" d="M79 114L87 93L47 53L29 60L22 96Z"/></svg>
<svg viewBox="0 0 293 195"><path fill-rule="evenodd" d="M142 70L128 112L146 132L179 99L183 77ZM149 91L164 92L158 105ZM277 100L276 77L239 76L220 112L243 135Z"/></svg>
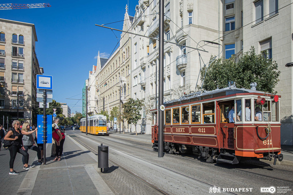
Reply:
<svg viewBox="0 0 293 195"><path fill-rule="evenodd" d="M263 91L257 91L257 90L251 90L251 89L246 89L246 88L237 88L235 85L231 85L229 87L225 87L222 89L215 89L212 91L198 91L192 94L188 94L185 96L180 97L179 99L171 100L171 101L165 101L164 104L170 104L173 102L178 102L178 101L188 101L189 99L192 98L198 98L198 97L203 97L203 96L210 96L212 97L220 97L220 96L225 96L225 95L232 95L232 94L241 94L241 93L258 93L258 94L268 94L268 95L273 95L271 93L266 93ZM215 95L215 96L214 96ZM280 97L280 96L279 96Z"/></svg>

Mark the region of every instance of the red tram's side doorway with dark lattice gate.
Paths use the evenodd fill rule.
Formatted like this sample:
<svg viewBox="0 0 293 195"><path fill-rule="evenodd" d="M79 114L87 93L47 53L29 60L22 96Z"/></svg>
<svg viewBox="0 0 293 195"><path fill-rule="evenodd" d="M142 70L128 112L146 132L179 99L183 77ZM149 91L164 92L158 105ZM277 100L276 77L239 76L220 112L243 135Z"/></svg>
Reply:
<svg viewBox="0 0 293 195"><path fill-rule="evenodd" d="M220 147L223 149L234 149L234 123L229 123L229 111L234 105L234 101L219 103L219 133ZM236 116L236 115L235 115Z"/></svg>

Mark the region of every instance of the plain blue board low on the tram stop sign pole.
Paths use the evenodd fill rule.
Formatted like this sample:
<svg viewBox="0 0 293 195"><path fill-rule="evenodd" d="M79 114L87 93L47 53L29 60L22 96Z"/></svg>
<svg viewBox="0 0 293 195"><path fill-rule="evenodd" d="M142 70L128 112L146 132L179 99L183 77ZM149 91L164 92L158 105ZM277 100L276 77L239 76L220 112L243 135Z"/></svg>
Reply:
<svg viewBox="0 0 293 195"><path fill-rule="evenodd" d="M37 144L43 144L43 116L38 114L37 116L37 127L38 127L38 140ZM47 115L47 143L52 143L52 115Z"/></svg>

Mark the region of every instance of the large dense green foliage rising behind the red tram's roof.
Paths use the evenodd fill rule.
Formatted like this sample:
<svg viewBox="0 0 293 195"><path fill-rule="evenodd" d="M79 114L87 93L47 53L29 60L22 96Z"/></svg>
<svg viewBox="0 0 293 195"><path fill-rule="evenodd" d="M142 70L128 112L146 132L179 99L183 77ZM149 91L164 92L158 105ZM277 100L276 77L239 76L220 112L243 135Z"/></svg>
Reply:
<svg viewBox="0 0 293 195"><path fill-rule="evenodd" d="M229 81L234 81L237 87L250 89L250 83L256 82L257 90L277 93L274 87L279 81L278 64L272 59L267 59L264 54L256 54L254 47L245 52L238 62L235 62L235 57L220 58L208 66L206 75L205 71L206 67L200 71L201 81L204 79L204 90L214 90L217 86L224 88L227 87ZM197 89L200 88L201 86L197 86Z"/></svg>

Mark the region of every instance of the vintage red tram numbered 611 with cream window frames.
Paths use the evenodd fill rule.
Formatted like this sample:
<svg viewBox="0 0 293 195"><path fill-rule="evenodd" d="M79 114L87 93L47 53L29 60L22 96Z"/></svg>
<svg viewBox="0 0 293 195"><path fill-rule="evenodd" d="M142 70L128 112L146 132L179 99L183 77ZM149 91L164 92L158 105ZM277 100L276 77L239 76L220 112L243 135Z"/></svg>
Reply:
<svg viewBox="0 0 293 195"><path fill-rule="evenodd" d="M232 85L167 101L164 151L190 151L208 163L237 164L251 157L274 158L274 164L282 161L279 97ZM152 142L157 148L157 111L151 111Z"/></svg>

